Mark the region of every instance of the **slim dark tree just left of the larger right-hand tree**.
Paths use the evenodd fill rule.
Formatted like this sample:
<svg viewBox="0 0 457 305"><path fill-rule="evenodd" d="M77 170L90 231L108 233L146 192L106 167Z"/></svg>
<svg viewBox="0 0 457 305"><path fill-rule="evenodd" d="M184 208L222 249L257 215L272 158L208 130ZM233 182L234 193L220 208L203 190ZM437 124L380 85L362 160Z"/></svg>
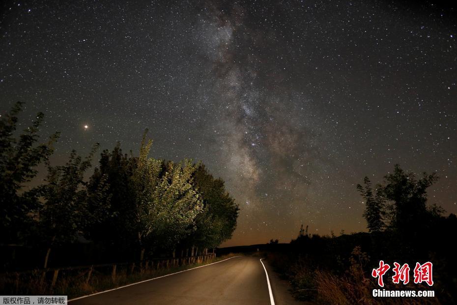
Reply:
<svg viewBox="0 0 457 305"><path fill-rule="evenodd" d="M369 232L379 232L384 228L383 210L384 200L382 197L381 185L376 185L375 193L371 188L371 181L368 177L364 179L365 187L357 184L357 189L364 198L365 211L363 216L367 220Z"/></svg>

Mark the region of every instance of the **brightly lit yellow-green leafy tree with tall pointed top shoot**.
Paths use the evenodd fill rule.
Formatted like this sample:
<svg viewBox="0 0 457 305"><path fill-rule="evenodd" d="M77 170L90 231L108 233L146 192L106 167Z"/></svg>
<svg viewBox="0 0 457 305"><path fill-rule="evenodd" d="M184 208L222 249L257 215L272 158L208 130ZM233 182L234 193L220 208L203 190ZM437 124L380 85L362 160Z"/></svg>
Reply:
<svg viewBox="0 0 457 305"><path fill-rule="evenodd" d="M136 188L136 217L133 226L143 259L146 245L150 250L173 248L192 232L191 224L202 210L199 193L194 189L196 166L192 160L180 163L148 158L152 141L143 136L140 157L133 175Z"/></svg>

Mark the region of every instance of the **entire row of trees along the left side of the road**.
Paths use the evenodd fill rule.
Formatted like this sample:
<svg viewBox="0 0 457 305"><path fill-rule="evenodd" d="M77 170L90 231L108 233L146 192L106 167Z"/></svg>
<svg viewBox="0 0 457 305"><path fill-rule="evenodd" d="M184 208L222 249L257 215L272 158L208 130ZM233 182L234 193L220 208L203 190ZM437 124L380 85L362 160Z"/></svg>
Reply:
<svg viewBox="0 0 457 305"><path fill-rule="evenodd" d="M81 239L111 251L136 251L143 260L179 250L189 255L189 249L217 247L231 237L238 205L203 163L150 157L146 130L138 155L123 153L117 143L101 152L86 180L99 145L86 157L72 151L65 164L52 165L59 133L38 144L42 113L18 132L22 108L18 102L0 118L1 244L46 245L46 268L53 248ZM24 187L40 164L46 179Z"/></svg>

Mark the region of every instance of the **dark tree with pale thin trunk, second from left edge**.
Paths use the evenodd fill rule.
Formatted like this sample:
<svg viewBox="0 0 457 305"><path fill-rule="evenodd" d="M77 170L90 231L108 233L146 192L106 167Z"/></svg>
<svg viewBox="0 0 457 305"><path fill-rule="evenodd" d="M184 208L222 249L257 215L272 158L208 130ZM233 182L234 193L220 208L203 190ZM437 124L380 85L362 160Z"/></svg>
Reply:
<svg viewBox="0 0 457 305"><path fill-rule="evenodd" d="M98 144L84 160L72 151L65 165L51 166L47 162L47 183L36 188L42 198L38 211L39 227L48 242L43 268L47 268L53 245L75 241L87 225L90 215L87 213L84 174L91 166L97 148Z"/></svg>

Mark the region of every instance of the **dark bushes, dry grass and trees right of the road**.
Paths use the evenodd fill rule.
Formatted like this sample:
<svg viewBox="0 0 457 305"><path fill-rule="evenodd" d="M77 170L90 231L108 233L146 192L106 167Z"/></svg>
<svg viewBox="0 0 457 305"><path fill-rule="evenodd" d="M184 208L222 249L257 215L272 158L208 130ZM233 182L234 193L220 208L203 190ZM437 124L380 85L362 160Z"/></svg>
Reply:
<svg viewBox="0 0 457 305"><path fill-rule="evenodd" d="M369 233L311 235L301 227L290 244L271 241L268 259L291 284L299 300L321 304L455 304L457 302L457 218L427 205L432 175L417 178L399 165L374 188L358 185ZM258 248L258 247L257 247ZM262 250L262 249L261 249ZM383 260L391 266L384 287L371 276ZM410 281L394 284L394 262L410 266ZM416 262L433 264L433 285L414 283ZM434 290L435 298L374 298L373 289Z"/></svg>

